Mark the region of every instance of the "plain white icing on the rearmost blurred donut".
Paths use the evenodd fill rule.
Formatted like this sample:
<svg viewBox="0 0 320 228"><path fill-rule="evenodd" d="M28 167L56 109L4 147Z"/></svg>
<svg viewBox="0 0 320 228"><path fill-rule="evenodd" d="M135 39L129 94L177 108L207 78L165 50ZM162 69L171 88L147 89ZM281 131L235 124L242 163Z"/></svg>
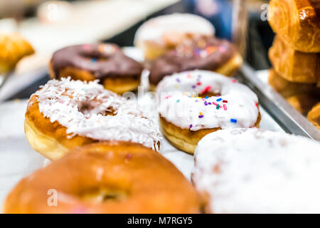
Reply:
<svg viewBox="0 0 320 228"><path fill-rule="evenodd" d="M192 34L197 36L213 36L215 28L210 21L194 14L169 14L157 16L146 21L137 30L134 44L140 41L151 41L164 45L164 37L170 38L171 34L181 36ZM174 37L172 37L174 39Z"/></svg>

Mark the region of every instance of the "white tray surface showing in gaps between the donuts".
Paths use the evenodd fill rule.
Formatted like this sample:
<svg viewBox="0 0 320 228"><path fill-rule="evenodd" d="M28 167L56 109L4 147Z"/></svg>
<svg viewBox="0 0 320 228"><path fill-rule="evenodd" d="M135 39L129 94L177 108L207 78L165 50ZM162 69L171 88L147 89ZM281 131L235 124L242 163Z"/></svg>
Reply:
<svg viewBox="0 0 320 228"><path fill-rule="evenodd" d="M0 205L6 195L21 180L35 170L48 164L45 157L34 151L26 140L23 130L27 100L14 100L0 105ZM146 93L139 103L153 109L154 101ZM261 108L260 128L282 131L282 128ZM156 113L151 112L156 122ZM190 180L193 169L193 156L173 147L165 138L161 140L160 153L176 165L183 175Z"/></svg>

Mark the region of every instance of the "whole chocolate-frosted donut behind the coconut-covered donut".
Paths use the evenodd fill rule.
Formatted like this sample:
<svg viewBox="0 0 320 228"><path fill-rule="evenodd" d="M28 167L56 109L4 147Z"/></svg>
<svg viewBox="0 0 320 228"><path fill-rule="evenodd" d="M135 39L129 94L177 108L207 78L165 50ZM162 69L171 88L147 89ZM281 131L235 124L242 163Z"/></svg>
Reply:
<svg viewBox="0 0 320 228"><path fill-rule="evenodd" d="M50 78L99 80L107 90L124 93L140 85L143 66L112 43L68 46L53 53L49 63Z"/></svg>

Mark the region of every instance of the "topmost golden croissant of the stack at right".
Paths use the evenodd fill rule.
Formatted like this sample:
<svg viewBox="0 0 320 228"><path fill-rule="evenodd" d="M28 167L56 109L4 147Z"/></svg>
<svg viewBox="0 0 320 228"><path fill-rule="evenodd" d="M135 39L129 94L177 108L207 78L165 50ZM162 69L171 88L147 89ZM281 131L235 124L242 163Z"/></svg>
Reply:
<svg viewBox="0 0 320 228"><path fill-rule="evenodd" d="M268 17L273 31L289 46L320 52L319 0L272 0Z"/></svg>

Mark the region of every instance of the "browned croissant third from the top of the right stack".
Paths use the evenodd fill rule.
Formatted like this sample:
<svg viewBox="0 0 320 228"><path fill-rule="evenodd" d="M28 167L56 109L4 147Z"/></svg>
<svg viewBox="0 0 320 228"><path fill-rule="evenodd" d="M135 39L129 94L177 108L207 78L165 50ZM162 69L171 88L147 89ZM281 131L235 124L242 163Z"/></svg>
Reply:
<svg viewBox="0 0 320 228"><path fill-rule="evenodd" d="M272 86L274 90L277 90L284 98L302 93L320 95L320 88L317 88L316 84L287 81L274 70L270 70L268 80L270 86Z"/></svg>

